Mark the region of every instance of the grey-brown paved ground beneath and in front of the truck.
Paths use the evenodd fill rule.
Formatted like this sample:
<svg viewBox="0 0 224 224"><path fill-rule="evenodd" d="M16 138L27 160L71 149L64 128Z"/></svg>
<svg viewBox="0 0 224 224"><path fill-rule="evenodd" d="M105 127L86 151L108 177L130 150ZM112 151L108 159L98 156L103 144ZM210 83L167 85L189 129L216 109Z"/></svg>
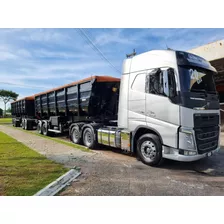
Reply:
<svg viewBox="0 0 224 224"><path fill-rule="evenodd" d="M153 168L105 148L87 153L20 129L0 126L0 131L49 159L81 167L80 178L60 195L224 195L224 149L198 162L167 160Z"/></svg>

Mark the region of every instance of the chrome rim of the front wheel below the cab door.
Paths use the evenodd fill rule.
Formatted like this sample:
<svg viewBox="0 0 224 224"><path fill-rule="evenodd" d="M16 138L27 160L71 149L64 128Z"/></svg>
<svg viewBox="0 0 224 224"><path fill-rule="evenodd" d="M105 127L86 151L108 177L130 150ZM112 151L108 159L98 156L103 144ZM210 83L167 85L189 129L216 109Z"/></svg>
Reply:
<svg viewBox="0 0 224 224"><path fill-rule="evenodd" d="M151 141L144 141L141 145L141 154L147 161L154 161L156 158L156 146Z"/></svg>

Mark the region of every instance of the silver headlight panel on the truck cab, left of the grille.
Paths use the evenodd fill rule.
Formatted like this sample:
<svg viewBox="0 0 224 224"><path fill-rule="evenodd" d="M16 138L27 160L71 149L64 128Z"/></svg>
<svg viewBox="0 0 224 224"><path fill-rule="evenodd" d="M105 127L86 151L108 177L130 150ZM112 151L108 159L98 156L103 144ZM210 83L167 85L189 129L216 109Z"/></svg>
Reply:
<svg viewBox="0 0 224 224"><path fill-rule="evenodd" d="M187 150L196 150L194 143L194 134L192 130L181 128L179 132L179 148Z"/></svg>

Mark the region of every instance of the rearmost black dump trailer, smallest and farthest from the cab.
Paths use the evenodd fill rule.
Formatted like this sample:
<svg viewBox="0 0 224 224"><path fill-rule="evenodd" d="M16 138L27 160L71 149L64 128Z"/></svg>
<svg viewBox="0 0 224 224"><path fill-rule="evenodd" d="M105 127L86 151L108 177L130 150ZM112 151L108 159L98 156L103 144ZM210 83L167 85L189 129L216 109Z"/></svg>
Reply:
<svg viewBox="0 0 224 224"><path fill-rule="evenodd" d="M37 126L34 109L34 96L25 97L12 102L11 110L12 124L14 127L22 127L25 130L30 130Z"/></svg>

